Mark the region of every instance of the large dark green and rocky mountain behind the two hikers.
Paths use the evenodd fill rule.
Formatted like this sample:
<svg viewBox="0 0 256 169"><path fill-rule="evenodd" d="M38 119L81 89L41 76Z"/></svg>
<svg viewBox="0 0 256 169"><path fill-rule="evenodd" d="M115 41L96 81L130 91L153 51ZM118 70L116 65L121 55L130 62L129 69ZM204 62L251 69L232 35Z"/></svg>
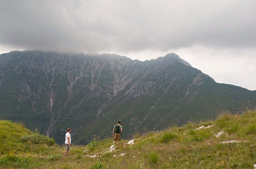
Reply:
<svg viewBox="0 0 256 169"><path fill-rule="evenodd" d="M0 118L24 121L63 143L122 137L255 106L256 91L220 84L175 53L146 61L117 54L12 51L0 55Z"/></svg>

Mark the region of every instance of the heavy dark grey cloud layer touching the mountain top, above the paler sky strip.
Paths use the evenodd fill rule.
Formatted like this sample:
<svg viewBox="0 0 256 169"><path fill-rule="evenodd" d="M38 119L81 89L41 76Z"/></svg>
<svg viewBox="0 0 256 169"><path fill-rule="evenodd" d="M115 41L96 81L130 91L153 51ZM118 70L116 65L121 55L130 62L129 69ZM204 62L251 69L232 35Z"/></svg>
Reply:
<svg viewBox="0 0 256 169"><path fill-rule="evenodd" d="M88 52L251 47L255 5L254 0L2 0L0 43Z"/></svg>

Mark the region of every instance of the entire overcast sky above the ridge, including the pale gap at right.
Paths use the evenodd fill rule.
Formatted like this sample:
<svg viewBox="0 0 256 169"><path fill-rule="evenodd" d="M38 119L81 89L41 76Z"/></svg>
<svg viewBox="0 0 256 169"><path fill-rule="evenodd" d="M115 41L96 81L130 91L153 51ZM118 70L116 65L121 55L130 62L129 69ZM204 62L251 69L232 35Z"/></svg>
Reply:
<svg viewBox="0 0 256 169"><path fill-rule="evenodd" d="M175 52L256 90L256 0L1 0L0 53L39 49L150 60Z"/></svg>

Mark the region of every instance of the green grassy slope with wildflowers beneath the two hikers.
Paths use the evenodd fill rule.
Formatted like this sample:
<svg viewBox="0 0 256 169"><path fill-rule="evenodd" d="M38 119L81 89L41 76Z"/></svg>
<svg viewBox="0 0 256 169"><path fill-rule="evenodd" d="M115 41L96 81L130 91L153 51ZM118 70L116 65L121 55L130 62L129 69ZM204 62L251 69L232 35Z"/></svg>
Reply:
<svg viewBox="0 0 256 169"><path fill-rule="evenodd" d="M135 134L134 144L97 135L87 145L65 147L22 124L0 121L1 168L253 168L256 111L224 112L214 121L187 123L160 132ZM196 129L201 126L201 129ZM209 126L209 127L208 127ZM223 134L216 137L220 131ZM233 140L233 141L231 141ZM234 141L235 140L235 141ZM229 141L221 143L222 141Z"/></svg>

